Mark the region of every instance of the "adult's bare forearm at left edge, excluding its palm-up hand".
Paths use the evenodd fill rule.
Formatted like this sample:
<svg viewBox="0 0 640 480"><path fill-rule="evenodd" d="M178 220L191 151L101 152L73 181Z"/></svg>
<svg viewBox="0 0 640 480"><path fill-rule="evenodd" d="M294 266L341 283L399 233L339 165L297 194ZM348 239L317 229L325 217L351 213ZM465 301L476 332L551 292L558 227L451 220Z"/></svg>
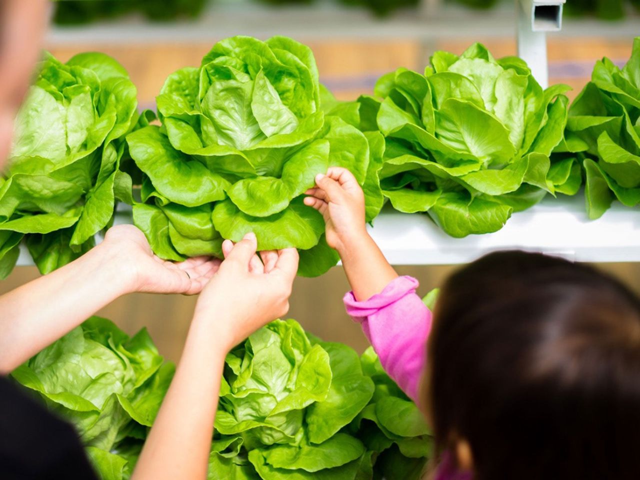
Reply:
<svg viewBox="0 0 640 480"><path fill-rule="evenodd" d="M0 297L0 374L31 358L130 289L109 250L80 259Z"/></svg>

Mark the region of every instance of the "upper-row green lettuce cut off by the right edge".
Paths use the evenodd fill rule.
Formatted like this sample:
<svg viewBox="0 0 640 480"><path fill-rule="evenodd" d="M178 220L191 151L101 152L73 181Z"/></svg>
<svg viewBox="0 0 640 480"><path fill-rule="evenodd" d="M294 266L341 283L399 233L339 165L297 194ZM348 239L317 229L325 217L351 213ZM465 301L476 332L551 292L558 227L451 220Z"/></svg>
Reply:
<svg viewBox="0 0 640 480"><path fill-rule="evenodd" d="M596 62L591 82L569 110L563 158L580 159L589 218L618 200L640 204L640 37L627 65Z"/></svg>

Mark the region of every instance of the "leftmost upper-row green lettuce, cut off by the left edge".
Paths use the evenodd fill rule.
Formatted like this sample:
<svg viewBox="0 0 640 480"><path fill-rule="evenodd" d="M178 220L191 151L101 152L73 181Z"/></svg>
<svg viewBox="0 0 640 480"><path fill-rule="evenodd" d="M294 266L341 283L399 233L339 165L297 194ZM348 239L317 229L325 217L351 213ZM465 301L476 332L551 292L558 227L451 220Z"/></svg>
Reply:
<svg viewBox="0 0 640 480"><path fill-rule="evenodd" d="M119 167L136 106L136 88L113 58L83 53L61 63L45 55L0 180L1 276L23 238L48 273L93 246L117 201L131 204L131 177Z"/></svg>

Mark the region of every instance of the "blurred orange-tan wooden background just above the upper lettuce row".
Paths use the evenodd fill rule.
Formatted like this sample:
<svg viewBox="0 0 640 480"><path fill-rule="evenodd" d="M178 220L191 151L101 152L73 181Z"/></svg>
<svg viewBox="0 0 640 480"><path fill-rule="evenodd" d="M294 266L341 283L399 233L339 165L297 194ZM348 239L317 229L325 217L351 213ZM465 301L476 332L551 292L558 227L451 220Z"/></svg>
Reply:
<svg viewBox="0 0 640 480"><path fill-rule="evenodd" d="M305 40L299 39L301 42ZM321 80L340 99L353 100L362 93L372 93L376 79L398 67L424 70L429 56L436 50L457 54L473 42L485 44L496 57L516 54L513 38L465 38L421 44L412 40L327 40L312 41ZM164 79L186 66L198 66L210 44L141 44L141 45L74 45L50 47L60 60L67 60L77 52L99 50L114 56L138 86L140 102L152 106ZM628 59L632 38L563 37L549 38L550 82L566 83L574 88L575 97L591 77L596 60L609 56L616 62Z"/></svg>

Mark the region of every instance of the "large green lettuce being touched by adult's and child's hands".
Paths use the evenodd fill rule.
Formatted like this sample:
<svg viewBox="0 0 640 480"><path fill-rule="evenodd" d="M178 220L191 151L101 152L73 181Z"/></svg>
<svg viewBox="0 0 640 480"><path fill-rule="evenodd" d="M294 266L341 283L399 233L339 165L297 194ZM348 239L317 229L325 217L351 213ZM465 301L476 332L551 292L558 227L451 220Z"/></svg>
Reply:
<svg viewBox="0 0 640 480"><path fill-rule="evenodd" d="M355 126L321 108L308 47L280 36L222 40L199 68L166 79L157 108L162 126L127 141L145 175L145 204L134 206L134 222L158 255L219 256L221 239L253 231L260 250L308 252L302 274L335 265L323 218L303 205L303 193L329 166L346 167L365 184L370 149ZM198 233L178 225L196 222Z"/></svg>

